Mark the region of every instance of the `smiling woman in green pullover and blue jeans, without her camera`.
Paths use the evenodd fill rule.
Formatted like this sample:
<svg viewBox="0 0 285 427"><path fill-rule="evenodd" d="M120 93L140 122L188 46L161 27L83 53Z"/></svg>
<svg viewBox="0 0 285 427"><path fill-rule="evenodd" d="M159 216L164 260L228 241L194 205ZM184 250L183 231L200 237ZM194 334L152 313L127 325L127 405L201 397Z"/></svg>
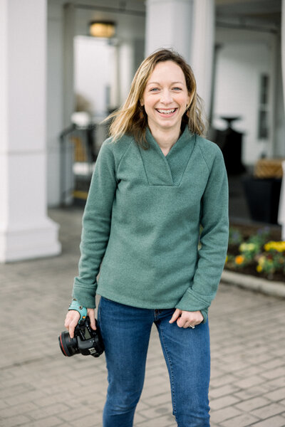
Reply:
<svg viewBox="0 0 285 427"><path fill-rule="evenodd" d="M109 381L103 426L133 426L155 322L177 426L206 427L207 310L228 238L222 152L202 137L190 66L167 49L142 62L125 105L112 117L90 184L73 286L93 329L95 293L101 295L98 324ZM68 311L71 337L78 319Z"/></svg>

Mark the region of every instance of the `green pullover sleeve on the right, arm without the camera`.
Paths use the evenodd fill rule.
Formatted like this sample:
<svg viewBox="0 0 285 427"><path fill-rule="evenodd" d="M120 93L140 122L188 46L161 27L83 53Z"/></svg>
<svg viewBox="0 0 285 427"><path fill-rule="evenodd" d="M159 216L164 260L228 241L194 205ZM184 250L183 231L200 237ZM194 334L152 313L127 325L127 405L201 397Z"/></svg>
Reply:
<svg viewBox="0 0 285 427"><path fill-rule="evenodd" d="M214 160L208 164L209 178L201 200L200 248L197 268L190 288L187 289L177 308L201 311L204 322L208 307L214 299L224 268L229 238L229 190L224 158L215 146Z"/></svg>

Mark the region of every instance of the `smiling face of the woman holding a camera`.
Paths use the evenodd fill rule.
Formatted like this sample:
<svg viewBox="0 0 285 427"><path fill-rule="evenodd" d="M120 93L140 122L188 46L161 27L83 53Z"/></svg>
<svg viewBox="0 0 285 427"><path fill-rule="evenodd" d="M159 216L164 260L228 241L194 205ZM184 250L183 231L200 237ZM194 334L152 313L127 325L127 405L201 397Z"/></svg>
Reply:
<svg viewBox="0 0 285 427"><path fill-rule="evenodd" d="M172 60L158 63L147 80L141 105L150 130L177 130L190 100L185 75Z"/></svg>

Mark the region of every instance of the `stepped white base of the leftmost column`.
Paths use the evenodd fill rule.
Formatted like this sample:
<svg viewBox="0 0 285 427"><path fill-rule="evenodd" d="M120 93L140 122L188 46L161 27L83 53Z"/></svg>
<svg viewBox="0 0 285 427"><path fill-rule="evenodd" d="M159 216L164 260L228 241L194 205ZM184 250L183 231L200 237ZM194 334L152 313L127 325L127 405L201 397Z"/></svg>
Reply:
<svg viewBox="0 0 285 427"><path fill-rule="evenodd" d="M58 228L50 218L26 227L0 228L0 263L58 255Z"/></svg>

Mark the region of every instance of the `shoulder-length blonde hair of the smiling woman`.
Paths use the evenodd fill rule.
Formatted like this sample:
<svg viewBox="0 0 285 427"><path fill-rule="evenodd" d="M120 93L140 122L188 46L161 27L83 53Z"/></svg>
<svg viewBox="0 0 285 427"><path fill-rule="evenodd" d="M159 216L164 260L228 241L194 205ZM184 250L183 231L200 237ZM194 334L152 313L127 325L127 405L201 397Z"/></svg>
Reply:
<svg viewBox="0 0 285 427"><path fill-rule="evenodd" d="M114 142L118 141L123 135L128 134L132 135L142 147L147 147L145 141L147 115L144 107L140 105L140 100L155 65L167 60L172 60L182 69L190 95L190 102L182 117L181 126L187 125L190 132L201 136L204 136L207 132L207 120L204 117L202 98L197 94L196 80L192 68L179 53L169 49L160 49L142 61L135 73L125 103L105 119L113 120L110 125L109 134L113 137Z"/></svg>

